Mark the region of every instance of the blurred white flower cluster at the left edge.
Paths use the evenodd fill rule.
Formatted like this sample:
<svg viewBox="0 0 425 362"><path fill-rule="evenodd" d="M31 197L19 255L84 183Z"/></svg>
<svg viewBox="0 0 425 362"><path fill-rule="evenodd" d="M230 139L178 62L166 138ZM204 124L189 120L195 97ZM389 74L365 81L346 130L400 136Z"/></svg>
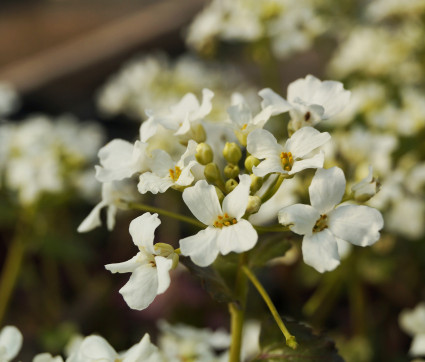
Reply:
<svg viewBox="0 0 425 362"><path fill-rule="evenodd" d="M66 115L51 119L34 115L0 124L0 185L17 193L19 203L32 205L43 194L97 190L89 168L104 140L94 123Z"/></svg>

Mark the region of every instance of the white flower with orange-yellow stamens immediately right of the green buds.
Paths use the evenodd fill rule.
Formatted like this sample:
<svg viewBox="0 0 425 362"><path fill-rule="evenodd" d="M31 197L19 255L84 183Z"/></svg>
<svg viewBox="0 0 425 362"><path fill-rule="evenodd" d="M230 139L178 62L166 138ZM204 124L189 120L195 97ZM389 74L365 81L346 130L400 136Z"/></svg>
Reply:
<svg viewBox="0 0 425 362"><path fill-rule="evenodd" d="M327 132L320 133L312 127L303 127L282 146L270 132L255 130L248 136L247 150L254 157L264 160L252 171L256 176L263 177L274 172L293 175L306 168L323 167L323 153L312 157L308 155L330 138Z"/></svg>

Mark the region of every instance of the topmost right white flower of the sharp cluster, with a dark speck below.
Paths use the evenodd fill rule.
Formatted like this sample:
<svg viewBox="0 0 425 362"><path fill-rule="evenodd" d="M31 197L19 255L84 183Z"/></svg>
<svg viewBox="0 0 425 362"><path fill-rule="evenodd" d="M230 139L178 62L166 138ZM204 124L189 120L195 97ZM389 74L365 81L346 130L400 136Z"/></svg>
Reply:
<svg viewBox="0 0 425 362"><path fill-rule="evenodd" d="M258 93L263 108L273 107L273 114L289 111L292 126L297 130L304 126L314 126L321 120L340 113L350 100L350 91L340 82L320 81L312 75L298 79L288 86L288 100L273 92L270 88Z"/></svg>

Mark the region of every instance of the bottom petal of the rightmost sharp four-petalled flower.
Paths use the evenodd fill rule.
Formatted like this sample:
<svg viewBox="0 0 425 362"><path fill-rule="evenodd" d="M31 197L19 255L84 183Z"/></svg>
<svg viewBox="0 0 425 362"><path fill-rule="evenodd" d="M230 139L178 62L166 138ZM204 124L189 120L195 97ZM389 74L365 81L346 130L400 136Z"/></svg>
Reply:
<svg viewBox="0 0 425 362"><path fill-rule="evenodd" d="M339 265L338 244L327 229L305 235L302 251L304 262L320 273L334 270Z"/></svg>

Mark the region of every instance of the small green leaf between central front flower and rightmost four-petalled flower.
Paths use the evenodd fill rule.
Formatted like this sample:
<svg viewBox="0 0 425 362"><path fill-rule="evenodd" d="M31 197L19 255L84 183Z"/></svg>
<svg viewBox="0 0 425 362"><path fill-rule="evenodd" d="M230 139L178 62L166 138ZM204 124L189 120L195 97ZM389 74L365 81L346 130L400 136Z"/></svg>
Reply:
<svg viewBox="0 0 425 362"><path fill-rule="evenodd" d="M251 267L263 266L273 258L284 256L291 247L290 239L283 235L260 240L250 252L250 265Z"/></svg>

